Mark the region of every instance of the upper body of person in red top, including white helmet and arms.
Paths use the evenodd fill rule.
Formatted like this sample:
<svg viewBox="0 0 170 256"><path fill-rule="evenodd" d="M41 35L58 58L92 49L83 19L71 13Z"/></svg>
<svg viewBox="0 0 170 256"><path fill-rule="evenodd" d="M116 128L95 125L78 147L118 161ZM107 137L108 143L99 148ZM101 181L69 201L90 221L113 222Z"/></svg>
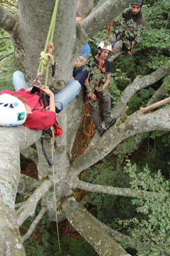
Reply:
<svg viewBox="0 0 170 256"><path fill-rule="evenodd" d="M15 92L4 90L0 93L0 125L17 126L18 124L23 124L30 129L44 130L55 123L56 113L53 92L49 88L44 89L44 86L40 87L41 92L45 93L50 98L48 108L45 110L42 101L40 101L39 94L37 92L31 94L31 90L32 88L26 90L21 88L19 91ZM4 94L7 96L4 97ZM8 94L14 97L8 97ZM15 98L17 99L15 100ZM16 112L15 108L17 108L18 105L21 105L20 101L25 106L25 110L23 108L21 110L20 107L20 111L22 111L21 113L23 113L23 115L25 113L27 115L26 118L23 118L23 123L20 123L18 118L13 120L13 116ZM10 112L12 113L12 116L10 115ZM17 113L18 111L16 114ZM6 118L4 118L5 115L7 115Z"/></svg>

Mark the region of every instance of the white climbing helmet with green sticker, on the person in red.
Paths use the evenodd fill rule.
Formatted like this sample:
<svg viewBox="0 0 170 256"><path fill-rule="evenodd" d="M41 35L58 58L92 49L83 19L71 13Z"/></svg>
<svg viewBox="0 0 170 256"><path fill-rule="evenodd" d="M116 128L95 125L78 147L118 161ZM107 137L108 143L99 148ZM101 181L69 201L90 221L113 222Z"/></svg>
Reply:
<svg viewBox="0 0 170 256"><path fill-rule="evenodd" d="M23 102L7 93L0 95L0 125L17 126L26 121L27 112Z"/></svg>

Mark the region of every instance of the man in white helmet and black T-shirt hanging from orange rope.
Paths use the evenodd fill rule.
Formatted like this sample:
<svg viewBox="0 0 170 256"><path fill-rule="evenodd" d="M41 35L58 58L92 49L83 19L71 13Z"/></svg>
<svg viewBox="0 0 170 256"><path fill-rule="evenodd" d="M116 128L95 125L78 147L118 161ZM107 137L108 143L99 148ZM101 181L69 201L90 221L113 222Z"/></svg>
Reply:
<svg viewBox="0 0 170 256"><path fill-rule="evenodd" d="M100 59L102 58L103 60L102 68L100 72L101 74L104 75L105 79L100 79L98 84L98 91L97 90L93 91L90 87L90 80L92 80L92 75L90 75L90 73L88 74L88 77L85 80L85 87L87 89L88 95L91 100L90 112L91 112L92 120L94 122L95 129L98 130L98 133L100 136L102 136L106 132L106 130L108 130L116 121L115 118L111 118L111 98L109 95L107 95L107 93L109 93L109 90L107 87L110 81L111 62L106 58L109 52L111 51L111 49L112 47L110 42L102 41L98 46L97 54L93 58L94 60L93 69L96 69L96 70L99 69ZM99 105L95 104L98 98L102 100L103 117L104 117L106 129L102 127Z"/></svg>

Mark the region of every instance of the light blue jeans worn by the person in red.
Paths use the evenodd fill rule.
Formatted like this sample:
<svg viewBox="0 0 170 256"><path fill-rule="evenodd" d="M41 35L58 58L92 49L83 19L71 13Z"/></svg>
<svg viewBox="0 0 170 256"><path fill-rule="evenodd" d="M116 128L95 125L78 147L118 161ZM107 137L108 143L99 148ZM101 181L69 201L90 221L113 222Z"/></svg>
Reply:
<svg viewBox="0 0 170 256"><path fill-rule="evenodd" d="M29 86L25 81L23 73L16 71L13 73L12 82L15 88L15 91L24 88L28 89ZM66 83L66 86L63 90L54 95L56 108L61 111L63 110L68 103L79 94L81 90L81 84L77 80L70 80Z"/></svg>

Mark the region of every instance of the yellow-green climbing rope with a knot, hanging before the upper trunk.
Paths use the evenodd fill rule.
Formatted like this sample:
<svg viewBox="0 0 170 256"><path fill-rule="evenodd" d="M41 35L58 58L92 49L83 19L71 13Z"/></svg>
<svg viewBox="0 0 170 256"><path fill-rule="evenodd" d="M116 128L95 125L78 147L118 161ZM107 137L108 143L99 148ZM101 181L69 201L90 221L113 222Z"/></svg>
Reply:
<svg viewBox="0 0 170 256"><path fill-rule="evenodd" d="M39 63L38 71L37 71L37 74L40 73L40 75L43 74L43 69L44 69L44 66L46 66L46 61L48 60L48 57L51 58L52 65L54 65L53 56L49 53L46 53L46 50L47 50L48 42L53 41L55 24L56 24L58 2L59 2L59 0L56 0L54 11L53 11L53 16L52 16L52 20L51 20L51 24L50 24L50 28L48 30L48 34L47 34L47 38L46 38L46 42L45 42L44 51L41 52L40 63ZM48 63L47 68L46 68L45 88L47 86L47 80L48 80L48 69L49 69L49 63Z"/></svg>

